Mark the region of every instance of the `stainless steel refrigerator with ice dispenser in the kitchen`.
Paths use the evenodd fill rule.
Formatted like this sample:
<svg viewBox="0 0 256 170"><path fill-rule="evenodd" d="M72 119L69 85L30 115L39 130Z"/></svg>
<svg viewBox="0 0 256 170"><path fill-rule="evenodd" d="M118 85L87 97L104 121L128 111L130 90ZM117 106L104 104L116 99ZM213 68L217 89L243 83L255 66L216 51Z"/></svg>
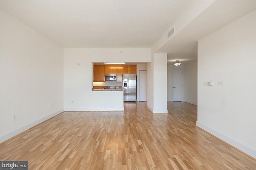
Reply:
<svg viewBox="0 0 256 170"><path fill-rule="evenodd" d="M123 74L124 102L135 102L137 100L136 79L136 74Z"/></svg>

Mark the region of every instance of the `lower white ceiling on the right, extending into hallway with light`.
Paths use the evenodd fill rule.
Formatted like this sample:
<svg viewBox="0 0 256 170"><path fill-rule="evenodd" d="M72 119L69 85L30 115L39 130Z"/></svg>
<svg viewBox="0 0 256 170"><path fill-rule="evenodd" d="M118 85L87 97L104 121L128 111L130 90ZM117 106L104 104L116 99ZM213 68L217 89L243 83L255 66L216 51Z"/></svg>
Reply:
<svg viewBox="0 0 256 170"><path fill-rule="evenodd" d="M157 53L168 53L168 63L175 63L176 60L184 64L197 61L198 40L252 10L256 10L256 0L215 0Z"/></svg>

